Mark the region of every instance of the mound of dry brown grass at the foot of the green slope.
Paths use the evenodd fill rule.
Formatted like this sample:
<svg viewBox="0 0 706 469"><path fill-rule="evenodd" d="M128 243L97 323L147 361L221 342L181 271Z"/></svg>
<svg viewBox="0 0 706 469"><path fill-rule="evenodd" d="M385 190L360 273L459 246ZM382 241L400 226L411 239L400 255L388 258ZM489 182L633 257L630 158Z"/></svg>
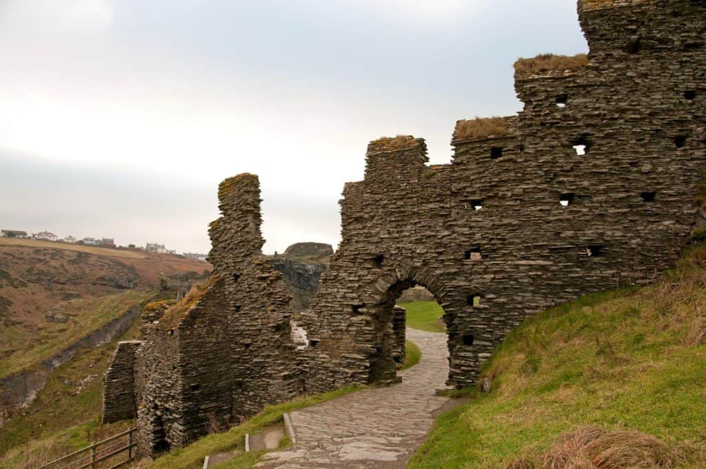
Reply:
<svg viewBox="0 0 706 469"><path fill-rule="evenodd" d="M520 459L508 469L655 469L674 468L683 452L642 432L609 432L582 427L560 435L535 461Z"/></svg>

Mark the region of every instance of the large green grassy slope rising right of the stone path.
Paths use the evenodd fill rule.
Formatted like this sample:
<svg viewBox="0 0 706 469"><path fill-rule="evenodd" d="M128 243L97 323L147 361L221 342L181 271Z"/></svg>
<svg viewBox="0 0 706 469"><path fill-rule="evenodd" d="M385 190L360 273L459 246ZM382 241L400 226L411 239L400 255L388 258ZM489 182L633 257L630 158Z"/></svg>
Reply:
<svg viewBox="0 0 706 469"><path fill-rule="evenodd" d="M486 362L489 394L442 415L411 468L506 468L584 425L637 430L706 467L706 249L639 291L544 311Z"/></svg>

